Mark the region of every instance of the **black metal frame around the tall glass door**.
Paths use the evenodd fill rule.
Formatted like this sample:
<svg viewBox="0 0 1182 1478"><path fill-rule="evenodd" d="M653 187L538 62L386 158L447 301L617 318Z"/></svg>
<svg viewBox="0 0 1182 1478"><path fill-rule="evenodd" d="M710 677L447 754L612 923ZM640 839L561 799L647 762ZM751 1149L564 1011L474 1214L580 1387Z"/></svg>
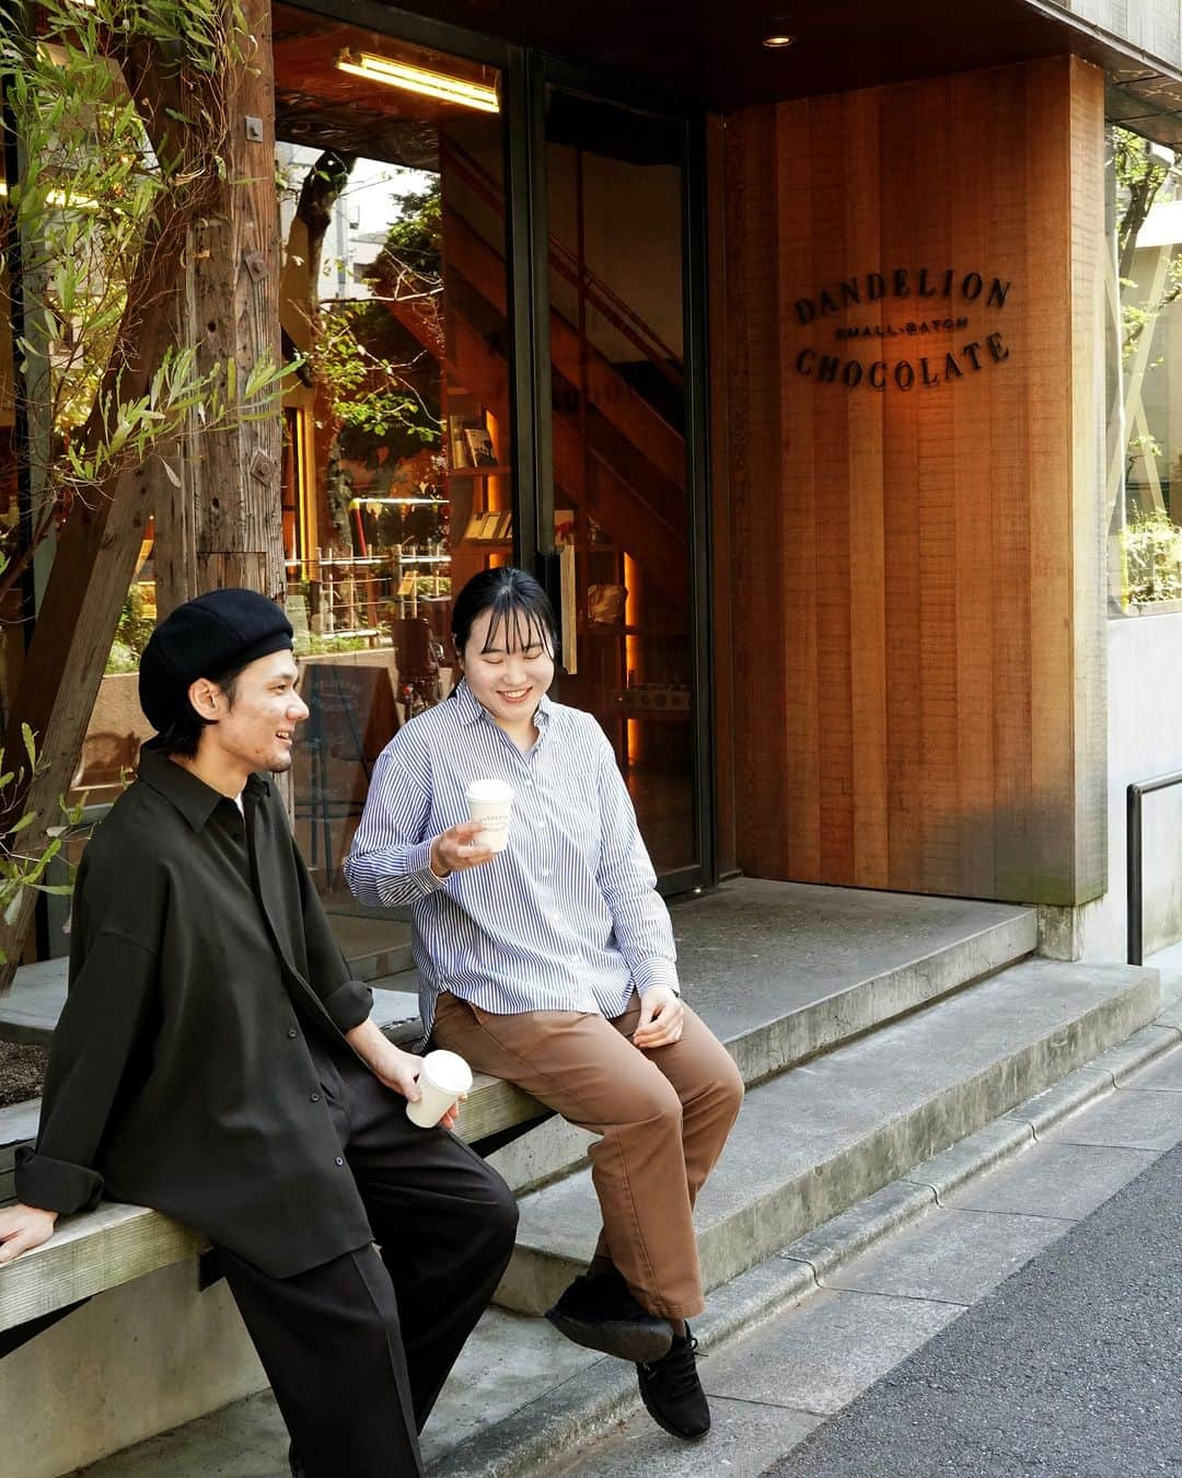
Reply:
<svg viewBox="0 0 1182 1478"><path fill-rule="evenodd" d="M287 0L412 44L501 69L505 80L505 254L513 334L513 557L533 569L553 553L554 477L550 378L550 234L545 93L561 87L674 123L683 142L681 239L686 325L686 471L694 693L693 786L699 862L666 872L665 896L697 893L718 876L715 840L714 662L711 643L709 358L706 321L706 157L702 106L649 78L584 65L374 0Z"/></svg>

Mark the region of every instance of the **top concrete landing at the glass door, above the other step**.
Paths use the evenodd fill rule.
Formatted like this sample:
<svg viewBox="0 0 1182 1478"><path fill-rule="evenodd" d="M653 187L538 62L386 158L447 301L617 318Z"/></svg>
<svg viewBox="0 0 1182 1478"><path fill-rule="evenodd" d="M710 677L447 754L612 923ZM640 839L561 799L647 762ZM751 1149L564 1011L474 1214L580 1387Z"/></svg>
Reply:
<svg viewBox="0 0 1182 1478"><path fill-rule="evenodd" d="M1033 909L740 878L672 909L686 1001L748 1085L1027 956ZM491 1157L516 1191L587 1162L553 1119Z"/></svg>

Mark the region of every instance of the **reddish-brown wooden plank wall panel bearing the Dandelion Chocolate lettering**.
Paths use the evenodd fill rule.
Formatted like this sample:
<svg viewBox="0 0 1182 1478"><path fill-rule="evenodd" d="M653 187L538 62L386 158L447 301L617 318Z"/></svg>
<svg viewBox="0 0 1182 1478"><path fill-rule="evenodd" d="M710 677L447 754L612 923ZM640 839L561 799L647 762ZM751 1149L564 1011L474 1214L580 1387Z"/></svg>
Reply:
<svg viewBox="0 0 1182 1478"><path fill-rule="evenodd" d="M749 873L1049 903L1104 888L1102 111L1101 74L1062 58L727 120ZM968 322L907 331L946 316Z"/></svg>

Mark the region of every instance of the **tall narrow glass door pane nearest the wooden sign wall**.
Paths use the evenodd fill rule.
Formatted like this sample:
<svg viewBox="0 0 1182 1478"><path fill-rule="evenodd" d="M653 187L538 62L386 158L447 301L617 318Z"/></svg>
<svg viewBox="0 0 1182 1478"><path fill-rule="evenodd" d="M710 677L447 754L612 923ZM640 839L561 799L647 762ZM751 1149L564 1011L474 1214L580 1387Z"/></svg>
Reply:
<svg viewBox="0 0 1182 1478"><path fill-rule="evenodd" d="M545 89L561 701L598 718L653 863L702 866L681 120Z"/></svg>

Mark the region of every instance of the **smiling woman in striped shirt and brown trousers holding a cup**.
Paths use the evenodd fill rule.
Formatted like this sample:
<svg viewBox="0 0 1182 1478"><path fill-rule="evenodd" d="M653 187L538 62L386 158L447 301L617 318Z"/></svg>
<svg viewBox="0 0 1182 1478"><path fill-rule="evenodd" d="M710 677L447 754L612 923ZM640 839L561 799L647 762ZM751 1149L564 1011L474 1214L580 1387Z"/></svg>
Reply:
<svg viewBox="0 0 1182 1478"><path fill-rule="evenodd" d="M638 1366L653 1419L702 1437L689 1318L703 1308L693 1203L743 1098L725 1048L681 1001L669 913L607 738L547 698L557 630L519 569L452 610L462 680L390 740L346 863L363 903L412 903L424 1027L601 1138L603 1231L547 1318ZM491 851L465 789L514 792Z"/></svg>

